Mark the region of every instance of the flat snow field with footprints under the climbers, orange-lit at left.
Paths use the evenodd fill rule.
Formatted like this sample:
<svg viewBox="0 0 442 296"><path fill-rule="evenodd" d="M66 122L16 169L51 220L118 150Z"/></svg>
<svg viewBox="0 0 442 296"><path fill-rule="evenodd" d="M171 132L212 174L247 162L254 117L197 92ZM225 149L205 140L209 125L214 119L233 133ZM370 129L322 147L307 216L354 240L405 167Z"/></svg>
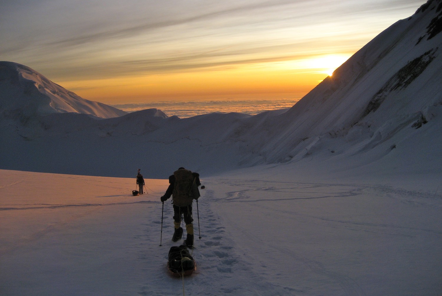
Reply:
<svg viewBox="0 0 442 296"><path fill-rule="evenodd" d="M193 207L192 254L198 270L183 281L166 270L168 250L179 244L171 241L169 201L164 204L161 234L159 198L167 180L146 180L148 193L132 196L135 178L1 170L0 291L2 295L441 292L441 192L424 190L424 180L411 190L397 181L392 186L385 180L292 179L282 179L271 168L202 177L206 189L201 189L198 200L201 229L195 202ZM23 186L27 194L19 190Z"/></svg>

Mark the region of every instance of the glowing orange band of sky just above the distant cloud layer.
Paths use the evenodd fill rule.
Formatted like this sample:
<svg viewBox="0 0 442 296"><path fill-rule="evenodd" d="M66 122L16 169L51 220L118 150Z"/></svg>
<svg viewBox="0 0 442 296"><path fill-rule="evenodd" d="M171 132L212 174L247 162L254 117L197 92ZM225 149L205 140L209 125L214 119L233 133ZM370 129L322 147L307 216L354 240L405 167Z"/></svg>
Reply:
<svg viewBox="0 0 442 296"><path fill-rule="evenodd" d="M63 81L82 97L107 102L301 98L340 64L331 68L291 69L286 65L248 65L236 69L159 73L99 80ZM84 88L89 85L88 88ZM111 100L111 98L113 100Z"/></svg>

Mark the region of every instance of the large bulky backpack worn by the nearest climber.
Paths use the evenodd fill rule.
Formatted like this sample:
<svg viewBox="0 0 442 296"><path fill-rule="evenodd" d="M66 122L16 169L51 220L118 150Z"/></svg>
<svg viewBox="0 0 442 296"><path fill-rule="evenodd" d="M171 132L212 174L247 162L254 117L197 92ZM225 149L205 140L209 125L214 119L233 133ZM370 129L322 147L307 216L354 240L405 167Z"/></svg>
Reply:
<svg viewBox="0 0 442 296"><path fill-rule="evenodd" d="M192 203L192 185L195 177L187 169L179 169L173 173L175 182L173 186L172 198L173 204L184 207Z"/></svg>

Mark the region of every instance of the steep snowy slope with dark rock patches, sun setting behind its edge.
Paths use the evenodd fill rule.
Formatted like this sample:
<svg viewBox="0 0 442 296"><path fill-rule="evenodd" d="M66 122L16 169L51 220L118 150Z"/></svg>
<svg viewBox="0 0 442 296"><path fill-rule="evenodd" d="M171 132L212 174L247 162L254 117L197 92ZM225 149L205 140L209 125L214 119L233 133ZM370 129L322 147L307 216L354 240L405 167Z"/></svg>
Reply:
<svg viewBox="0 0 442 296"><path fill-rule="evenodd" d="M393 24L286 113L264 118L264 123L255 117L259 124L251 126L257 135L263 134L263 125L279 130L265 130L268 140L254 147L261 143L266 161L319 153L345 154L347 159L372 154L376 161L393 146L397 159L402 153L411 156L402 149L419 139L421 145L414 147L419 154L441 159L442 35L427 39L429 24L442 19L441 5L429 1L409 19ZM429 129L434 138L423 135ZM428 159L424 166L431 163ZM440 165L431 165L430 171Z"/></svg>

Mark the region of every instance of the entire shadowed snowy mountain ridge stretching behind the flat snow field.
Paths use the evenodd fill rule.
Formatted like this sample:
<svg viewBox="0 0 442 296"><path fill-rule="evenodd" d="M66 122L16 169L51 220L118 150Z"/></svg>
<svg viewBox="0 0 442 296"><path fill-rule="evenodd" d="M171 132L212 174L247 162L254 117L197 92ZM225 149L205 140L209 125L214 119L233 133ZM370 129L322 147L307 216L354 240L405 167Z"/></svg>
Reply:
<svg viewBox="0 0 442 296"><path fill-rule="evenodd" d="M125 114L2 62L0 168L128 177L142 167L145 177L164 178L179 166L213 174L317 162L324 172L440 173L441 19L442 1L428 1L289 110L255 116Z"/></svg>

